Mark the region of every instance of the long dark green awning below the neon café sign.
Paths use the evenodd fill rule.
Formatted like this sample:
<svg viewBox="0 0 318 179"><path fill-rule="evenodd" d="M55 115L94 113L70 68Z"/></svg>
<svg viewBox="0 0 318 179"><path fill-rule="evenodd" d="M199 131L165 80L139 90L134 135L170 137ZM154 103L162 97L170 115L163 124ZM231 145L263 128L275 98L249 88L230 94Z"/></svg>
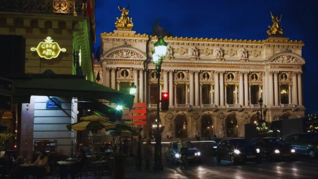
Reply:
<svg viewBox="0 0 318 179"><path fill-rule="evenodd" d="M25 74L9 77L13 81L15 97L53 96L105 99L127 108L132 108L134 96L95 82L85 80L78 75Z"/></svg>

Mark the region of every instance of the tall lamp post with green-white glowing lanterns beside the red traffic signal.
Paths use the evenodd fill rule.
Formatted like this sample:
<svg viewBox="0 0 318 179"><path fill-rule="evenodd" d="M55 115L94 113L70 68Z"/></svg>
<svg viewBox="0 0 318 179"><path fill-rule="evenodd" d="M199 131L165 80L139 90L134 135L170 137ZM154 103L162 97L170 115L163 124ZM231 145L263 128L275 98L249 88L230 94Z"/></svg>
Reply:
<svg viewBox="0 0 318 179"><path fill-rule="evenodd" d="M160 72L161 72L161 64L163 58L167 53L167 42L163 40L163 38L159 37L158 41L154 44L155 49L152 51L152 61L156 65L157 72L157 89L158 89L158 101L157 101L157 120L156 120L156 147L155 147L155 165L154 170L163 170L162 166L162 146L161 146L161 132L163 127L159 124L160 119Z"/></svg>

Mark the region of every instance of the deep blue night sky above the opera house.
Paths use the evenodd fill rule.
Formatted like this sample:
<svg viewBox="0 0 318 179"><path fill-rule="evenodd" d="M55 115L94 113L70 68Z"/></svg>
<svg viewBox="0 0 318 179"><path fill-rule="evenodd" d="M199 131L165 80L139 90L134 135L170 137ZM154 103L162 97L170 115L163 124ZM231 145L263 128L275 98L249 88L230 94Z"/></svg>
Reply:
<svg viewBox="0 0 318 179"><path fill-rule="evenodd" d="M318 111L317 0L96 0L95 50L100 46L100 33L115 30L120 16L117 6L128 4L136 33L151 34L158 17L160 26L178 37L266 39L272 24L270 12L282 14L285 37L305 42L304 104L306 112Z"/></svg>

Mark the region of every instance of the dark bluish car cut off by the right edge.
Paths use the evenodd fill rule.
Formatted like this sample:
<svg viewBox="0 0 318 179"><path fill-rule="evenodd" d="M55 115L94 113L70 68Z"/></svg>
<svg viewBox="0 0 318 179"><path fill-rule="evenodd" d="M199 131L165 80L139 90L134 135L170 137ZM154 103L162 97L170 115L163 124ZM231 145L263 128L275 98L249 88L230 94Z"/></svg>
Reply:
<svg viewBox="0 0 318 179"><path fill-rule="evenodd" d="M285 141L297 154L307 154L312 158L318 156L318 133L292 134L287 136Z"/></svg>

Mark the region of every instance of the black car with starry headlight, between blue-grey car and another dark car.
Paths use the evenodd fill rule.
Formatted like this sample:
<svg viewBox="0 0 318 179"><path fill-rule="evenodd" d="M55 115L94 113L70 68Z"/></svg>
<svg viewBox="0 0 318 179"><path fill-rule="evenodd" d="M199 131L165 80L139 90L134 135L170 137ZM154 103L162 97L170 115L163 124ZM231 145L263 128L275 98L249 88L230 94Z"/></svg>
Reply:
<svg viewBox="0 0 318 179"><path fill-rule="evenodd" d="M222 140L216 151L216 159L231 161L232 164L239 162L257 162L260 163L262 156L259 150L256 150L246 139L224 139Z"/></svg>

